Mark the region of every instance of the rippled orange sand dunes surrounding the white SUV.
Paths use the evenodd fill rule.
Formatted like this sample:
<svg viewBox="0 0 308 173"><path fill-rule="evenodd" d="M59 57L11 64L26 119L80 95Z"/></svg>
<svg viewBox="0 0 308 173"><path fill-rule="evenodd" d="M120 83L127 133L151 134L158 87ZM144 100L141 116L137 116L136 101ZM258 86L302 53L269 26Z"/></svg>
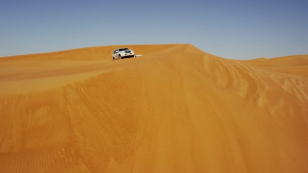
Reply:
<svg viewBox="0 0 308 173"><path fill-rule="evenodd" d="M307 55L118 47L0 58L0 172L308 172Z"/></svg>

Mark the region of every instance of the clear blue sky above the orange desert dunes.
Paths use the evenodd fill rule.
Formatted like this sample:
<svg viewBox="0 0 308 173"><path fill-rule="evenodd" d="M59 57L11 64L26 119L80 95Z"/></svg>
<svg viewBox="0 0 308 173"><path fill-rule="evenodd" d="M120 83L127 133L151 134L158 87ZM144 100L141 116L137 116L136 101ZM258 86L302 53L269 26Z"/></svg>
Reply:
<svg viewBox="0 0 308 173"><path fill-rule="evenodd" d="M308 0L0 3L0 57L172 43L232 59L308 54Z"/></svg>

